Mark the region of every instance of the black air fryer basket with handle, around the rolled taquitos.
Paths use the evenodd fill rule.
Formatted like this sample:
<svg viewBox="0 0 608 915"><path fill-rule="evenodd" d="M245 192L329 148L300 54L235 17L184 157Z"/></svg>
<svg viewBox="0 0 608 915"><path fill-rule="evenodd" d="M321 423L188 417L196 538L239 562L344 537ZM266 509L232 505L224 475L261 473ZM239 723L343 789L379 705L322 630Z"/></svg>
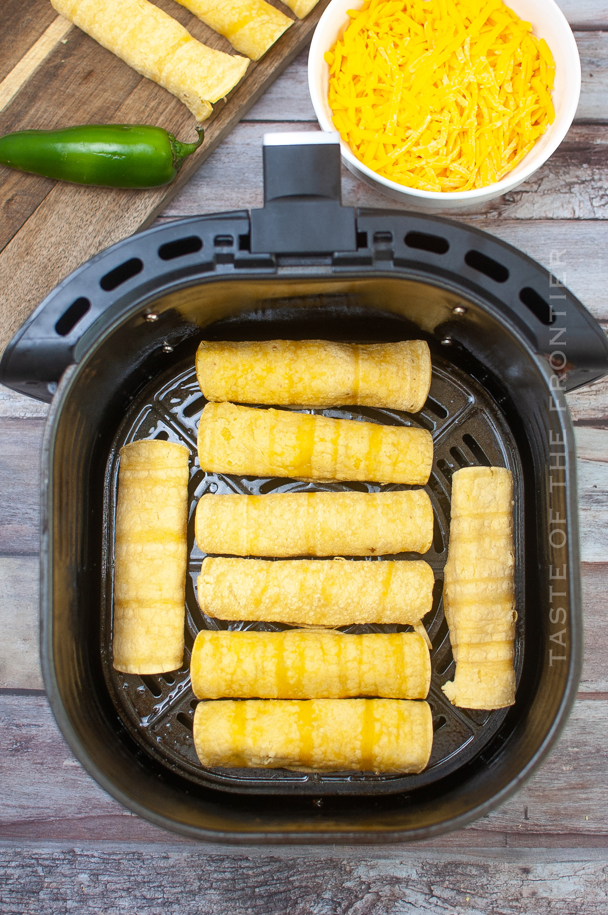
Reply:
<svg viewBox="0 0 608 915"><path fill-rule="evenodd" d="M546 270L481 231L400 211L342 208L339 146L327 139L301 135L298 145L281 145L269 138L263 210L173 222L84 264L38 307L0 363L0 381L52 397L42 471L41 643L53 712L103 788L190 837L369 844L471 823L545 758L579 682L575 456L564 391L608 371L603 332ZM431 350L429 399L418 414L314 411L433 435L426 489L435 529L424 558L436 587L424 623L435 734L419 775L207 770L194 752L189 662L197 631L284 628L201 614L198 499L404 489L199 468L199 341L311 338L422 338ZM140 677L114 671L111 640L118 451L141 438L182 442L191 461L184 665ZM508 467L515 484L516 704L494 712L454 708L440 688L454 674L441 602L451 474L471 465ZM394 557L352 561L383 558Z"/></svg>

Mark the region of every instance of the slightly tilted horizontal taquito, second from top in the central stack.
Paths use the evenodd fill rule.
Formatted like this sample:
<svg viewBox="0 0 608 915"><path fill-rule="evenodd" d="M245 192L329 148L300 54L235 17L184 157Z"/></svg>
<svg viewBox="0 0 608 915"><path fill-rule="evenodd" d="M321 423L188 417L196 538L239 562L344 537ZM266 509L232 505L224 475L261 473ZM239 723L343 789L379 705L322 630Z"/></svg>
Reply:
<svg viewBox="0 0 608 915"><path fill-rule="evenodd" d="M433 439L426 429L403 425L207 404L199 422L199 463L201 470L256 477L424 485Z"/></svg>

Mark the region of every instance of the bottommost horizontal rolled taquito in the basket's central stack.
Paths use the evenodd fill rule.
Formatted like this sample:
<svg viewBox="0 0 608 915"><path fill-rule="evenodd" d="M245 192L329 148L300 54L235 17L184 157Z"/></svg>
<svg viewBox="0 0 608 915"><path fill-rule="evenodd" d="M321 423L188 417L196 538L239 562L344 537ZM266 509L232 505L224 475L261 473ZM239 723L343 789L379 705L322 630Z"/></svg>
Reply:
<svg viewBox="0 0 608 915"><path fill-rule="evenodd" d="M432 743L429 704L407 699L225 699L194 713L208 767L420 772Z"/></svg>

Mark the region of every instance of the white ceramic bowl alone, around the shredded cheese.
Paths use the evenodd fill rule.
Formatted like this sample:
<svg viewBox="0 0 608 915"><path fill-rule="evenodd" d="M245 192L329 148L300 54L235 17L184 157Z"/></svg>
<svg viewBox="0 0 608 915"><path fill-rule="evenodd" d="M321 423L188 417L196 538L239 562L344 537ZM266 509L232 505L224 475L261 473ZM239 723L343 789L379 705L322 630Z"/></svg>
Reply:
<svg viewBox="0 0 608 915"><path fill-rule="evenodd" d="M327 101L330 69L323 55L352 21L346 15L349 9L360 9L364 0L331 0L315 29L309 53L309 92L321 129L335 131L331 122L331 109ZM553 106L555 120L545 134L538 137L536 144L519 165L509 172L502 181L464 191L430 191L406 188L396 181L383 178L371 168L364 166L354 155L350 146L342 143L342 158L348 168L365 184L420 210L461 210L477 206L486 200L500 197L513 190L532 175L558 148L568 133L581 94L581 59L570 26L554 0L506 0L520 19L532 23L534 34L545 38L555 59L555 87Z"/></svg>

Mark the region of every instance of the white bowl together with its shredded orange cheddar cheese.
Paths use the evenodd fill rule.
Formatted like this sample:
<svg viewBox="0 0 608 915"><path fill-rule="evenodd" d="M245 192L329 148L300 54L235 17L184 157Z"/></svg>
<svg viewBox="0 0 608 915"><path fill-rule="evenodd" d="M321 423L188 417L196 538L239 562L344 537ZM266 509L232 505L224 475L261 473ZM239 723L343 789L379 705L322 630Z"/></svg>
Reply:
<svg viewBox="0 0 608 915"><path fill-rule="evenodd" d="M309 91L354 175L413 208L463 209L557 149L581 61L554 0L331 0Z"/></svg>

